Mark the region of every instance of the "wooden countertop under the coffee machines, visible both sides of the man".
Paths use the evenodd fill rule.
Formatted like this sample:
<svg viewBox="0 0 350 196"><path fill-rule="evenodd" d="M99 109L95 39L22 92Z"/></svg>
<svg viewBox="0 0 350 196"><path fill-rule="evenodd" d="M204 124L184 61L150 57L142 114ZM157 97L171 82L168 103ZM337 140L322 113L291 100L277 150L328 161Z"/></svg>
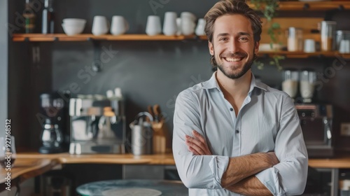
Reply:
<svg viewBox="0 0 350 196"><path fill-rule="evenodd" d="M141 155L132 154L111 155L70 155L69 153L40 154L40 153L18 153L13 168L11 168L11 186L21 183L26 179L48 172L52 167L63 164L120 164L120 165L175 165L172 154ZM330 159L309 159L310 167L317 168L350 168L350 155L343 155ZM0 192L5 190L5 169L0 170Z"/></svg>

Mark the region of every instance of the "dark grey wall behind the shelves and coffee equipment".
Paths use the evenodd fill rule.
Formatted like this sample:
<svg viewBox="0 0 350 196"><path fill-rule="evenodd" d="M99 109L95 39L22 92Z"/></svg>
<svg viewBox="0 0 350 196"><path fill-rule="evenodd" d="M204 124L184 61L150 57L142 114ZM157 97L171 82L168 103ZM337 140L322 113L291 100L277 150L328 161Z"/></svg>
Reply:
<svg viewBox="0 0 350 196"><path fill-rule="evenodd" d="M124 15L130 23L128 34L144 34L147 15L156 14L163 18L167 11L180 14L188 10L202 18L216 1L162 1L167 3L155 11L150 2L160 1L55 1L56 32L63 32L60 27L63 18L87 19L84 33L91 33L94 15L105 15L109 20L112 15ZM13 13L23 8L19 2L12 6ZM319 16L320 13L315 15ZM10 18L11 20L14 19ZM32 62L29 55L36 45L41 51L40 62ZM137 113L146 111L147 105L160 104L171 130L177 94L195 83L209 79L212 73L206 41L102 41L99 48L111 48L118 53L106 61L102 71L96 74L85 71L85 67L91 67L94 62L94 50L90 41L11 43L11 47L9 77L15 92L10 92L9 111L13 118L27 123L17 125L15 132L30 138L30 141L26 141L22 137L22 142L31 148L37 148L40 144L38 138L41 127L36 113L38 94L43 90L68 90L69 85L76 83L77 94L105 94L106 90L121 87L126 98L128 123ZM23 56L18 58L15 55L18 53ZM268 85L280 87L281 72L276 67L269 66L268 59L262 60L266 64L265 69L253 67L253 72ZM281 65L297 69L313 68L324 74L325 68L332 67L334 60L318 57L286 59ZM347 89L350 84L349 64L346 62L342 69L335 71L334 76L323 82L321 90L316 92L318 102L335 106L337 148L350 148L349 137L339 137L339 124L350 122L350 91ZM27 110L23 111L23 108Z"/></svg>

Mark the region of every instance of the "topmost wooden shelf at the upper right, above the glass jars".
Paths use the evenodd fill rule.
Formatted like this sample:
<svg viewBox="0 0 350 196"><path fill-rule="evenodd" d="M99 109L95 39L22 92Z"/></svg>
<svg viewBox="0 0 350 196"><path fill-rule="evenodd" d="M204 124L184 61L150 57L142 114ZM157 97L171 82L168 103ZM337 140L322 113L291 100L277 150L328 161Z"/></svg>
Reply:
<svg viewBox="0 0 350 196"><path fill-rule="evenodd" d="M248 3L253 6L252 3ZM279 3L279 10L332 10L350 9L350 1L286 1Z"/></svg>

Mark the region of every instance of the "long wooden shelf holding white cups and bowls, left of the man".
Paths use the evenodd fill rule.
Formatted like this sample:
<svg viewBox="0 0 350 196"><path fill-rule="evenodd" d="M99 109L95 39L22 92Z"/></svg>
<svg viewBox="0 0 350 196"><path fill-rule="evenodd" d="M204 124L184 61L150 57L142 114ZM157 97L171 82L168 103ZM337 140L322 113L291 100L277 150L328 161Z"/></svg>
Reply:
<svg viewBox="0 0 350 196"><path fill-rule="evenodd" d="M66 34L13 34L13 41L87 41L87 40L106 40L106 41L180 41L193 39L195 36L148 36L146 34L123 34L113 36L111 34L94 36L93 34L78 34L76 36L67 36Z"/></svg>

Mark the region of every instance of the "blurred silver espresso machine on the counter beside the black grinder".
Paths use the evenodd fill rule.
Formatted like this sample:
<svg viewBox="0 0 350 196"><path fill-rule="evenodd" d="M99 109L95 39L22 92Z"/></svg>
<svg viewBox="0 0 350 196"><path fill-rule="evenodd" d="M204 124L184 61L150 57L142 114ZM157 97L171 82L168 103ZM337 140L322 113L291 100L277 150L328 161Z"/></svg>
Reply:
<svg viewBox="0 0 350 196"><path fill-rule="evenodd" d="M126 120L120 94L80 94L69 100L69 116L69 153L125 153Z"/></svg>

